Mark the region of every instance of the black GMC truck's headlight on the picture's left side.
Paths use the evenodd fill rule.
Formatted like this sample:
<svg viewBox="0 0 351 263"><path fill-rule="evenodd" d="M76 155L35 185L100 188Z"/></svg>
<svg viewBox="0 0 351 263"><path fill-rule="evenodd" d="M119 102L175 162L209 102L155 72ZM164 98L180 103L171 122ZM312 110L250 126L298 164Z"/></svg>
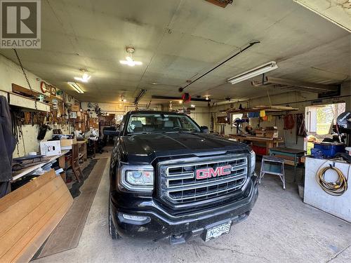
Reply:
<svg viewBox="0 0 351 263"><path fill-rule="evenodd" d="M121 166L119 182L129 191L152 191L154 168L152 166Z"/></svg>

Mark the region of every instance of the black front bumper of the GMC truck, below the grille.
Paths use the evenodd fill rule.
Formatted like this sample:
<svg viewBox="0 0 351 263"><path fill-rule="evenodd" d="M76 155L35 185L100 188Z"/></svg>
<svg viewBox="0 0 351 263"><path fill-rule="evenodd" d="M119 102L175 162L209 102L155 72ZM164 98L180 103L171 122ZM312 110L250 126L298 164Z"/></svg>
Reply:
<svg viewBox="0 0 351 263"><path fill-rule="evenodd" d="M216 208L186 215L171 215L154 201L129 202L124 198L110 196L110 213L117 232L122 237L158 241L169 238L170 243L184 243L195 236L203 237L206 228L217 222L232 221L237 224L246 219L258 198L258 182L251 176L246 190L249 194L239 201L226 203ZM145 217L142 222L126 219L123 215Z"/></svg>

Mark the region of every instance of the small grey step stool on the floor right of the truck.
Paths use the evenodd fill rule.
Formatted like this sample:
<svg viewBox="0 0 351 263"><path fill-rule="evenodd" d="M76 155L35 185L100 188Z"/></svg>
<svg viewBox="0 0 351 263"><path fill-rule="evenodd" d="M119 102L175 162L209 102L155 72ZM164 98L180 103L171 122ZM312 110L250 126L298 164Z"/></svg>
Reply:
<svg viewBox="0 0 351 263"><path fill-rule="evenodd" d="M274 169L277 168L277 169ZM283 182L283 189L285 189L285 170L284 159L265 155L262 157L260 177L258 183L261 183L263 176L268 173L270 175L278 175Z"/></svg>

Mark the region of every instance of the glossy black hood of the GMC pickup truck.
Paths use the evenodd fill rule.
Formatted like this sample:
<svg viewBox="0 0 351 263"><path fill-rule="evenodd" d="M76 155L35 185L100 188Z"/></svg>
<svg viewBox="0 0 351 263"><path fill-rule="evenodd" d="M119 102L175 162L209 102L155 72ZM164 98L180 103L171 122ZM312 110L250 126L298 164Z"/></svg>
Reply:
<svg viewBox="0 0 351 263"><path fill-rule="evenodd" d="M216 151L249 151L246 144L233 142L216 135L206 133L152 133L121 137L124 153L132 161L133 156L148 161L161 156L179 156L211 153ZM141 161L141 160L140 160ZM145 160L147 161L147 160Z"/></svg>

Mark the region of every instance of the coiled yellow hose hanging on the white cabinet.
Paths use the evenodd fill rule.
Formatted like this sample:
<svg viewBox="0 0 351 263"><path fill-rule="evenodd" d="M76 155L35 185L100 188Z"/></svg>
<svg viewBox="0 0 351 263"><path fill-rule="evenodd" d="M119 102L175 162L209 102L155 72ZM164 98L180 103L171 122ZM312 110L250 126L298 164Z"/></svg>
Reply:
<svg viewBox="0 0 351 263"><path fill-rule="evenodd" d="M324 180L324 175L327 170L334 170L338 174L338 180L335 182L327 182ZM319 168L316 174L317 183L319 186L327 193L332 196L341 196L347 190L347 178L343 172L334 166L326 166L324 168Z"/></svg>

